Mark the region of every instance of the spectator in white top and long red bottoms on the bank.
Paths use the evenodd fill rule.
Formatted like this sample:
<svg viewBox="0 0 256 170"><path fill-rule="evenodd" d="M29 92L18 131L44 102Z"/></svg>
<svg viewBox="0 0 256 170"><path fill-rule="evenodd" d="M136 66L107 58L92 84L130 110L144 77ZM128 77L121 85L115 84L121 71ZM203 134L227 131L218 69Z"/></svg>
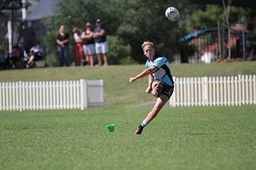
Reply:
<svg viewBox="0 0 256 170"><path fill-rule="evenodd" d="M73 28L73 38L75 40L75 65L86 65L83 40L81 38L81 31L78 27Z"/></svg>

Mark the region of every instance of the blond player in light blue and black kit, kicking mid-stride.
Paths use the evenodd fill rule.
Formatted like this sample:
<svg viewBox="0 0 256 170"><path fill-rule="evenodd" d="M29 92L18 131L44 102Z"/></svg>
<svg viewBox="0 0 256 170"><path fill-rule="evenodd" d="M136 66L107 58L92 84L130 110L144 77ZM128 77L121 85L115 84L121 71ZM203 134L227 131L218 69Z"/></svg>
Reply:
<svg viewBox="0 0 256 170"><path fill-rule="evenodd" d="M139 124L136 135L141 135L142 130L146 127L155 116L158 115L161 108L172 96L174 82L172 79L172 70L169 61L164 56L155 56L154 43L145 41L141 45L144 55L147 57L146 69L135 77L130 77L129 82L135 82L137 79L149 75L149 83L146 93L152 93L157 99L152 110L147 114L144 121Z"/></svg>

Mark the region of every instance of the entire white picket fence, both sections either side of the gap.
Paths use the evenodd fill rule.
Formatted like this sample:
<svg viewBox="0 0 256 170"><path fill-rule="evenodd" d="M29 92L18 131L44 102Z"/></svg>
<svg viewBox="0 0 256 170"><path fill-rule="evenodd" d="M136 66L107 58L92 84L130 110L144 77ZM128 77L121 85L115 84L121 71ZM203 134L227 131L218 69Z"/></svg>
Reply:
<svg viewBox="0 0 256 170"><path fill-rule="evenodd" d="M256 75L173 77L169 105L256 105ZM81 109L104 106L100 80L0 82L0 110Z"/></svg>

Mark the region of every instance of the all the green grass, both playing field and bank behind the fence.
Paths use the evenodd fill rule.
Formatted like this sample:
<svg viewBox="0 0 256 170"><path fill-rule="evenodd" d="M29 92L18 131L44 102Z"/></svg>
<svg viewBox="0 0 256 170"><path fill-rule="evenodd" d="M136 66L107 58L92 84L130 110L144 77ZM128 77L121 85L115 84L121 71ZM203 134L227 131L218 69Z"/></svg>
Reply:
<svg viewBox="0 0 256 170"><path fill-rule="evenodd" d="M172 65L176 77L256 74L256 62ZM256 105L164 107L140 136L155 101L144 65L0 71L0 82L104 79L105 106L0 112L0 169L256 169ZM115 132L106 125L115 124Z"/></svg>

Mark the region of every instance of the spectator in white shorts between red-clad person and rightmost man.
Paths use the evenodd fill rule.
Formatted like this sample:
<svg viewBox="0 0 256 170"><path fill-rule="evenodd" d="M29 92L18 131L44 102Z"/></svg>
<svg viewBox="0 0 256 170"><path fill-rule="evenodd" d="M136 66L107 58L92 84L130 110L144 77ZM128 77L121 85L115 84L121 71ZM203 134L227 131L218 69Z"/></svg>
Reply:
<svg viewBox="0 0 256 170"><path fill-rule="evenodd" d="M93 67L94 65L94 59L93 55L95 54L95 43L93 39L93 31L92 31L92 25L87 22L85 25L85 30L82 33L82 39L83 39L83 48L84 48L84 54L86 54L87 62L90 64L90 67Z"/></svg>

